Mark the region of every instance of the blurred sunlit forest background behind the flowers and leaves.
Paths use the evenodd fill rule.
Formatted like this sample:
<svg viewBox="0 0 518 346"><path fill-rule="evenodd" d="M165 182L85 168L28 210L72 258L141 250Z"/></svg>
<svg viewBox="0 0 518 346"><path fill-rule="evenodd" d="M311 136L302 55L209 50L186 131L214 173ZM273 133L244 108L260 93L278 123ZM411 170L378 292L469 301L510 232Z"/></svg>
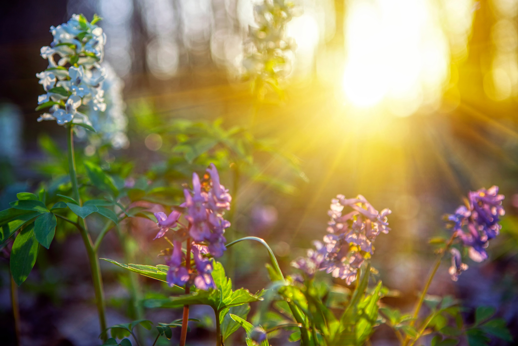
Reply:
<svg viewBox="0 0 518 346"><path fill-rule="evenodd" d="M393 210L392 230L378 238L373 266L385 285L400 291L390 302L403 310L411 308L433 263L427 240L449 232L442 215L453 212L468 190L499 185L507 214L502 235L488 249L490 261L469 262L458 282L444 265L430 293L455 295L468 307L497 308L518 338L518 0L300 2L303 14L287 25L297 49L281 84L285 97L269 93L262 101L241 80L243 41L254 25L250 0L3 2L0 209L8 208L16 193L33 191L54 175L66 148L64 128L36 122L41 112L34 111L41 93L35 74L47 65L39 49L51 41L49 27L73 13L89 19L97 13L108 36L105 64L113 77L108 111L116 121L109 145L84 136L76 142L78 152L98 155L104 168L133 162L130 178L151 171L146 179L188 182L188 170L177 164L181 151L172 149L181 137L170 130L172 121L219 120L225 129L251 125L255 137L294 155L291 165L300 169L279 155L256 155L260 174L239 179L227 240L264 238L283 271L290 272L292 259L325 234L330 199L363 194L378 210ZM231 192L239 172L233 164L228 157L222 173ZM266 175L270 178L261 178ZM156 256L159 240L151 241L153 223L124 227L131 228L134 263L163 263ZM124 262L113 233L100 256ZM98 344L80 235L70 230L56 238L50 250L39 252L19 288L25 342ZM253 292L265 287L263 249L233 250L235 285ZM130 321L131 277L102 265L108 325ZM138 280L143 295L170 292L151 279ZM206 312L192 311L193 318ZM11 313L8 261L1 260L0 343L6 345L15 342ZM176 316L146 313L164 321ZM202 320L188 340L208 345L211 333L212 321ZM383 327L372 341L397 344ZM281 337L270 342L290 344Z"/></svg>

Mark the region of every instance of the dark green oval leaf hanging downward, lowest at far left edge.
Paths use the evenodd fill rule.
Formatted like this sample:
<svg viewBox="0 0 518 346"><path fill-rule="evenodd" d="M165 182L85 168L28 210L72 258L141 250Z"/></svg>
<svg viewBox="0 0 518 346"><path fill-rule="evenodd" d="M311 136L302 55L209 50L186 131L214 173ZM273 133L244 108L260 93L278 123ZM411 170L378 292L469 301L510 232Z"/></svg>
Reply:
<svg viewBox="0 0 518 346"><path fill-rule="evenodd" d="M27 279L38 256L39 243L33 229L34 223L31 223L18 234L15 243L12 244L9 267L18 286Z"/></svg>

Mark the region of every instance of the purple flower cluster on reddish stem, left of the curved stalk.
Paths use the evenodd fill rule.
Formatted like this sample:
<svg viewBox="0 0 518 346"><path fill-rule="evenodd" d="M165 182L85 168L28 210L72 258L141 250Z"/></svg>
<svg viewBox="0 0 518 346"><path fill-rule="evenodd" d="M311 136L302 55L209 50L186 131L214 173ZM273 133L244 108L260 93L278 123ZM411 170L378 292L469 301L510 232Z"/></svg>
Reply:
<svg viewBox="0 0 518 346"><path fill-rule="evenodd" d="M225 210L230 209L232 197L225 186L220 184L218 170L214 164L210 164L207 172L210 174L211 182L203 184L203 186L198 175L193 173L193 190L183 190L185 202L180 205L186 208L184 218L189 222L189 225L184 227L187 234L180 238L187 236L194 240L192 253L196 268L189 272L186 267L181 265L184 261L181 241L175 240L174 250L167 260L169 266L167 282L170 285L182 286L186 283L194 283L200 290L215 287L210 274L212 260L207 259L204 254L220 257L226 250L226 239L223 234L225 228L230 226L230 222L223 218L223 214ZM169 228L174 228L178 224L183 226L179 222L182 215L179 211L173 210L169 216L163 212L157 212L154 215L158 221L157 225L160 227L160 232L155 239L163 237Z"/></svg>

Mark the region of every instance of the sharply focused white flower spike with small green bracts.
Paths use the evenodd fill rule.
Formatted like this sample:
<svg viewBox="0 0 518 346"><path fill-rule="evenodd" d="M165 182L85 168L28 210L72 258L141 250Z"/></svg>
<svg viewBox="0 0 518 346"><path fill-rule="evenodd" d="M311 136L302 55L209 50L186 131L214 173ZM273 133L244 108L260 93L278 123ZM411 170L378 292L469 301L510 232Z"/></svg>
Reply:
<svg viewBox="0 0 518 346"><path fill-rule="evenodd" d="M50 107L38 121L56 120L92 125L85 114L77 111L81 105L104 111L105 70L100 66L104 56L106 35L95 25L100 18L88 22L83 15L73 15L66 23L51 26L53 41L41 47L40 55L49 61L45 71L36 74L46 94L38 96L37 110ZM56 56L59 60L56 63ZM66 68L65 65L70 67Z"/></svg>

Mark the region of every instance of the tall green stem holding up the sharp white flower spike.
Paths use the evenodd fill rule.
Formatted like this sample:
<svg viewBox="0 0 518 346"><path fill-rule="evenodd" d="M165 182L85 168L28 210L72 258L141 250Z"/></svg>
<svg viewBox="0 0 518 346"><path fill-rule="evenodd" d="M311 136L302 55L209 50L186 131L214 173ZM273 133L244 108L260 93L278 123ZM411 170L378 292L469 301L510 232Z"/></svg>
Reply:
<svg viewBox="0 0 518 346"><path fill-rule="evenodd" d="M79 188L77 183L77 174L76 174L76 159L74 156L74 138L73 138L73 131L74 131L74 125L70 124L67 126L67 144L68 144L68 173L70 175L70 182L72 183L72 190L74 193L74 197L81 205L81 198L79 197ZM61 215L60 215L61 217ZM64 219L67 221L65 217L61 217L61 219ZM69 222L71 220L68 220ZM83 226L79 224L79 222L75 223L79 229L79 232L81 233L81 238L83 239L84 247L87 249L87 255L90 262L90 270L92 273L92 281L94 284L94 291L95 291L95 302L97 305L97 312L99 314L99 325L101 330L101 337L103 341L106 341L107 335L106 335L106 314L105 314L105 302L104 302L104 292L103 292L103 279L100 274L100 266L99 266L99 259L97 258L97 251L94 248L94 244L92 242L92 238L90 237L90 234L88 233L86 229L86 222L84 219ZM72 222L73 223L73 222Z"/></svg>

